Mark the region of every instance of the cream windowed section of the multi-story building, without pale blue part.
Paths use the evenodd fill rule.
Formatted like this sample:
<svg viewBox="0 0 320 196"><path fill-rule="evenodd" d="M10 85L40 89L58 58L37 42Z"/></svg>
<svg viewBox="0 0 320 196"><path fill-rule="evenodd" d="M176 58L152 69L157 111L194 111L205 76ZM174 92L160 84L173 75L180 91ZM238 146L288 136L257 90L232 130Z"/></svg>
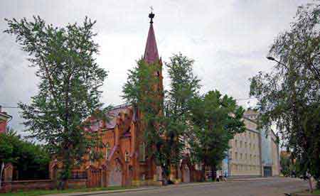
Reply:
<svg viewBox="0 0 320 196"><path fill-rule="evenodd" d="M230 177L261 176L261 138L256 114L245 111L245 132L229 141L228 175Z"/></svg>

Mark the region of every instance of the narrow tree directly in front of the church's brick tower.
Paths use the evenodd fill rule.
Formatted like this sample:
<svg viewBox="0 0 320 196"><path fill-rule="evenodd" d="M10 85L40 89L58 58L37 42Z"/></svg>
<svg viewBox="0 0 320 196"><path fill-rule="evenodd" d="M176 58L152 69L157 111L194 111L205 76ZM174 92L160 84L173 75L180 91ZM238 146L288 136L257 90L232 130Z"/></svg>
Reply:
<svg viewBox="0 0 320 196"><path fill-rule="evenodd" d="M161 70L158 63L148 64L143 59L137 62L133 70L129 70L127 82L122 89L123 98L138 109L139 127L143 130L142 139L146 144L149 158L156 165L166 170L166 154L164 153L164 92L159 85L157 73Z"/></svg>

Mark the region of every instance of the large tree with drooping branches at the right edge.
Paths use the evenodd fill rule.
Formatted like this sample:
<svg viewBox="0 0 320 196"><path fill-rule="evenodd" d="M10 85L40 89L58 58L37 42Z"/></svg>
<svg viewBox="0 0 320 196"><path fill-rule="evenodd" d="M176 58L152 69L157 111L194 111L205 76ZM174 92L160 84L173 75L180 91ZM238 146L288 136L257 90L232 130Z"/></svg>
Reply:
<svg viewBox="0 0 320 196"><path fill-rule="evenodd" d="M320 187L320 5L299 6L291 28L270 48L278 60L271 72L251 78L262 125L277 124L282 144Z"/></svg>

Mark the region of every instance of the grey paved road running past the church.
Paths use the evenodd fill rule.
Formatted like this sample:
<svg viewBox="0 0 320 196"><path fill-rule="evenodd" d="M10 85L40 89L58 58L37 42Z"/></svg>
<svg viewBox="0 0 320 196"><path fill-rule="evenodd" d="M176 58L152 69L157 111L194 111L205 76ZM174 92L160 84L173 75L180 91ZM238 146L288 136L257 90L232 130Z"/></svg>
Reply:
<svg viewBox="0 0 320 196"><path fill-rule="evenodd" d="M189 195L217 195L217 196L284 196L284 192L304 190L308 184L292 178L266 178L259 180L228 181L222 183L188 184L161 187L154 190L139 192L113 193L116 196L189 196ZM110 194L105 194L110 196ZM100 195L101 196L101 195Z"/></svg>

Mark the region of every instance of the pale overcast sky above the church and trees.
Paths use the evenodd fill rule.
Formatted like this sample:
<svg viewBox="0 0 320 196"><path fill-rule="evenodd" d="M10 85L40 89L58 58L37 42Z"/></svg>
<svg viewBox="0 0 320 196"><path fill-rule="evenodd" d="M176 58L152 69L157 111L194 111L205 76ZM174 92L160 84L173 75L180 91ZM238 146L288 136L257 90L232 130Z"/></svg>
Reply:
<svg viewBox="0 0 320 196"><path fill-rule="evenodd" d="M97 20L94 28L100 45L97 62L109 71L102 102L122 104L122 85L127 70L144 53L149 29L149 6L153 6L154 31L164 61L181 52L195 61L194 72L201 79L202 92L218 89L235 99L248 97L248 79L270 70L265 56L278 33L289 28L298 0L225 1L0 1L0 32L4 18L31 18L39 15L46 23L65 26L81 23L85 16ZM30 102L37 93L37 78L28 67L26 53L14 37L0 33L0 105L15 107ZM165 88L168 84L164 72ZM254 100L238 103L254 106ZM22 133L18 109L4 109L14 119L10 126ZM23 134L25 135L25 134Z"/></svg>

